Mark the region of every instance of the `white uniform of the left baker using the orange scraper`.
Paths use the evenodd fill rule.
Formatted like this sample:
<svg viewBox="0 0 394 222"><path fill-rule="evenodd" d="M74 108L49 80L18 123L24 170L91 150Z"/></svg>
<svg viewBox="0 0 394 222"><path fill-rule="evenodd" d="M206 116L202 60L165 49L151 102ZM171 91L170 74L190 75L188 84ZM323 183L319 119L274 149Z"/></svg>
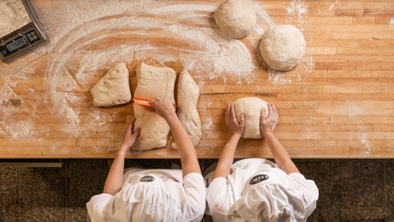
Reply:
<svg viewBox="0 0 394 222"><path fill-rule="evenodd" d="M160 181L162 184L161 186L164 187L166 191L168 191L171 199L175 199L175 202L178 203L176 209L177 210L180 209L181 215L179 215L177 221L183 222L183 221L202 220L205 210L205 204L206 204L206 199L205 199L206 187L204 184L203 176L201 174L190 173L187 174L184 178L182 178L182 170L133 169L127 171L123 175L123 187L130 186L129 183L133 183L133 179L135 177L141 177L141 175L154 175L155 177L158 177L162 180ZM149 190L150 189L146 189L146 191L143 192L149 192ZM93 222L105 221L103 213L105 211L107 204L109 204L111 201L113 202L113 198L115 196L103 193L103 194L95 195L90 199L90 201L86 205L87 205L88 214ZM133 198L133 196L136 195L131 195L131 198ZM127 201L135 202L135 201L144 201L144 200L142 197L142 199L139 200L136 199L136 200L131 200L131 201L127 200ZM163 214L168 213L165 212L165 210L169 209L168 208L169 206L161 206L161 205L150 206L150 207L152 211L155 211L154 213L156 214L158 214L158 212L160 214L161 211L163 211L161 212ZM145 213L150 214L151 212L145 212Z"/></svg>

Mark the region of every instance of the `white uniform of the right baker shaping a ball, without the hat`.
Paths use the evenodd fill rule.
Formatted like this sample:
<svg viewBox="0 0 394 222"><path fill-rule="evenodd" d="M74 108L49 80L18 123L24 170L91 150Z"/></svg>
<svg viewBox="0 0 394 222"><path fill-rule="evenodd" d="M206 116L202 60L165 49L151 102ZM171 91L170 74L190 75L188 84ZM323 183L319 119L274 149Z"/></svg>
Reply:
<svg viewBox="0 0 394 222"><path fill-rule="evenodd" d="M250 158L242 159L232 164L227 178L216 178L211 181L211 172L205 179L208 181L206 213L212 215L214 221L228 221L227 213L230 207L242 196L246 183L256 174L275 174L281 180L286 181L292 188L301 191L303 200L301 206L305 207L305 220L316 208L319 191L314 181L307 180L300 173L287 175L278 166L267 159ZM273 195L274 196L274 195Z"/></svg>

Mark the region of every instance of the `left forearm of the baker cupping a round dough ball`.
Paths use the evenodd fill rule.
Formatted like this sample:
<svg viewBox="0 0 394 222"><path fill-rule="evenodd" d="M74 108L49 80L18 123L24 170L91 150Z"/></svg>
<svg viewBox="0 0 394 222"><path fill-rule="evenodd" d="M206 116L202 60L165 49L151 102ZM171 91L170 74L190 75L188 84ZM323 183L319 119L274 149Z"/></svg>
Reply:
<svg viewBox="0 0 394 222"><path fill-rule="evenodd" d="M237 147L238 141L241 138L240 135L233 134L226 145L224 146L222 153L220 154L218 165L215 173L212 176L212 180L218 177L227 178L230 174L232 162L234 161L234 153Z"/></svg>

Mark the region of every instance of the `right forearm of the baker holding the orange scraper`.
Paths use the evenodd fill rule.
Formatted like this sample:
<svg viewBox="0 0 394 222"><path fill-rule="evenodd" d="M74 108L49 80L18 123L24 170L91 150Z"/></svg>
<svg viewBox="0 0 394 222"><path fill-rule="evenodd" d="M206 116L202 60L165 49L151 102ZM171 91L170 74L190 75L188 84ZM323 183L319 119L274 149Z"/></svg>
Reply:
<svg viewBox="0 0 394 222"><path fill-rule="evenodd" d="M174 136L179 157L181 159L183 177L189 173L201 174L195 147L191 142L190 136L183 128L175 113L167 118L167 123L170 126L172 135Z"/></svg>

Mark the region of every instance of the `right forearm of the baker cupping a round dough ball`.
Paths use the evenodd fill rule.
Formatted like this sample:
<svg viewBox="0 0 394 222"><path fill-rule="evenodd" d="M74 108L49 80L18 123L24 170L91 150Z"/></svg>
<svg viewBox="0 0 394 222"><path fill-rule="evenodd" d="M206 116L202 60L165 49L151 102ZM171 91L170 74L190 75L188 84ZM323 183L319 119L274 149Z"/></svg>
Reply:
<svg viewBox="0 0 394 222"><path fill-rule="evenodd" d="M287 150L283 147L275 135L271 131L264 132L263 134L279 169L283 170L287 174L300 173L291 160Z"/></svg>

